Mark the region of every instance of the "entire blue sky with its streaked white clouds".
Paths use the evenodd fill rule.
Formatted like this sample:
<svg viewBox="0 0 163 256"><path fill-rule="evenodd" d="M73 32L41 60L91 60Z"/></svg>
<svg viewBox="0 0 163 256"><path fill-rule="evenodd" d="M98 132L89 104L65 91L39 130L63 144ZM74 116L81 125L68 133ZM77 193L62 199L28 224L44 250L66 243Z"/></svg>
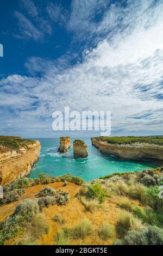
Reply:
<svg viewBox="0 0 163 256"><path fill-rule="evenodd" d="M111 111L112 136L162 134L162 13L162 0L2 0L0 134L58 136L65 106Z"/></svg>

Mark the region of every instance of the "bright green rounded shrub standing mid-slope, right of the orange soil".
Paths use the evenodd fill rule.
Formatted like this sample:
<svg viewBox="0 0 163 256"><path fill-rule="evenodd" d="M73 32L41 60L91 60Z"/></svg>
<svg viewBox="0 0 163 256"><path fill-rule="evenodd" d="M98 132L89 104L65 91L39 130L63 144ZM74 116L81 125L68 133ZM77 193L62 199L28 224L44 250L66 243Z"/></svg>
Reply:
<svg viewBox="0 0 163 256"><path fill-rule="evenodd" d="M106 193L100 184L98 183L93 184L88 187L88 190L89 190L89 196L91 198L98 198L100 203L104 202L106 198Z"/></svg>

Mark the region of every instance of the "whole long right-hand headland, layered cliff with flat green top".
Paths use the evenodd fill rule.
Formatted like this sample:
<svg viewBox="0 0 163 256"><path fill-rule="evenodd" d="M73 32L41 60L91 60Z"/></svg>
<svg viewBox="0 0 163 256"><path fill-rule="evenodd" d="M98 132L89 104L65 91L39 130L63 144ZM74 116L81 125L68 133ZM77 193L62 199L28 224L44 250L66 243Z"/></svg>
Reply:
<svg viewBox="0 0 163 256"><path fill-rule="evenodd" d="M91 142L102 153L122 159L163 160L163 136L95 137Z"/></svg>

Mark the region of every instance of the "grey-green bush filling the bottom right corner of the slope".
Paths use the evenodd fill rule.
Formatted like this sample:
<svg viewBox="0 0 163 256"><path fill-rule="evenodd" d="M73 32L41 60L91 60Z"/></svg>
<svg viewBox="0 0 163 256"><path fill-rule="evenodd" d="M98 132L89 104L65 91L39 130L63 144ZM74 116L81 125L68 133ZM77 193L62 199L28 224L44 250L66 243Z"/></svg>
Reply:
<svg viewBox="0 0 163 256"><path fill-rule="evenodd" d="M163 230L149 226L140 231L129 231L124 236L122 245L163 245Z"/></svg>

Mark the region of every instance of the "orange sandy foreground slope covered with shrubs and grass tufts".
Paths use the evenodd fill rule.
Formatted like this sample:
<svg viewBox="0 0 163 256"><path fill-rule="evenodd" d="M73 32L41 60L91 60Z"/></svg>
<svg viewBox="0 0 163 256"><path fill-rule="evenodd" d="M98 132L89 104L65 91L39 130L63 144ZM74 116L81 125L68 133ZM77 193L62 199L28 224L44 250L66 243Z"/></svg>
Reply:
<svg viewBox="0 0 163 256"><path fill-rule="evenodd" d="M90 182L70 174L17 179L4 186L19 196L1 203L0 243L162 245L162 176L157 168Z"/></svg>

